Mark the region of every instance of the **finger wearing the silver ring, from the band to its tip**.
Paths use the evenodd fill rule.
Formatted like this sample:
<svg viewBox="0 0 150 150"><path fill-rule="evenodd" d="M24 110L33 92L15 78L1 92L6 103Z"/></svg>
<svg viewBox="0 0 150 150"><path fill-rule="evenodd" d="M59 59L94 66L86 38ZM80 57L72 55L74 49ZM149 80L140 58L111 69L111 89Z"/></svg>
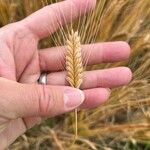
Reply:
<svg viewBox="0 0 150 150"><path fill-rule="evenodd" d="M132 73L127 67L112 69L86 71L81 89L97 87L114 88L128 84L131 81ZM66 81L66 72L50 73L47 76L50 85L69 85Z"/></svg>

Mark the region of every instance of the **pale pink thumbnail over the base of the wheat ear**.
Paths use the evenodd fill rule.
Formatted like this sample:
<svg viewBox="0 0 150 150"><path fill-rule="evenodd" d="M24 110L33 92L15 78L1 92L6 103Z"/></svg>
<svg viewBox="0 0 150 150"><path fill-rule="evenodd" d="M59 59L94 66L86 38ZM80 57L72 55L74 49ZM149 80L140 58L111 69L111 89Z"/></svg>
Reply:
<svg viewBox="0 0 150 150"><path fill-rule="evenodd" d="M64 93L64 104L67 110L72 110L80 106L85 99L84 93L81 90L67 90Z"/></svg>

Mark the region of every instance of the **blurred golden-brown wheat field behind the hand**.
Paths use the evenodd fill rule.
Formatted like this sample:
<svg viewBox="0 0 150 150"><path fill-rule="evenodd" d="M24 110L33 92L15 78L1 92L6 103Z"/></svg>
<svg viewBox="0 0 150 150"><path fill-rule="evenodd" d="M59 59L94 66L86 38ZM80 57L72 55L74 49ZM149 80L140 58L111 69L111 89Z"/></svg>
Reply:
<svg viewBox="0 0 150 150"><path fill-rule="evenodd" d="M52 0L0 0L0 26L21 20L47 3ZM95 13L97 16L99 11ZM74 136L71 113L46 120L8 149L150 150L150 0L106 0L102 12L95 41L127 41L132 55L126 62L100 64L90 69L125 65L133 71L132 82L114 89L109 101L101 107L80 112L79 137L73 147L70 148ZM94 36L94 32L89 34ZM48 39L41 45L52 44Z"/></svg>

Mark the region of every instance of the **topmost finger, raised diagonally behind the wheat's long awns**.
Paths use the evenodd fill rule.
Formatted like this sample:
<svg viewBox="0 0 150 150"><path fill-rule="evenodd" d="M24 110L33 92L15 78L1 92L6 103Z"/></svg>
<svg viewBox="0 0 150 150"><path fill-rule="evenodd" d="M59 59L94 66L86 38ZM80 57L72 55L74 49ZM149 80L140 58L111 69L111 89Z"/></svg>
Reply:
<svg viewBox="0 0 150 150"><path fill-rule="evenodd" d="M65 0L42 8L22 22L40 39L94 8L96 0Z"/></svg>

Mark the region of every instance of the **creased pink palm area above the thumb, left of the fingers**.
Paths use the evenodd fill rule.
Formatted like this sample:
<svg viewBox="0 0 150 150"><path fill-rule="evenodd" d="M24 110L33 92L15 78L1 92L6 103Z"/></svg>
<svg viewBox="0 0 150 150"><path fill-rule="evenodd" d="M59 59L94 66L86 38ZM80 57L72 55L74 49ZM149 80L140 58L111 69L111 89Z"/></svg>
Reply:
<svg viewBox="0 0 150 150"><path fill-rule="evenodd" d="M0 34L1 76L22 83L35 83L40 74L37 37L19 23L1 30L4 30Z"/></svg>

